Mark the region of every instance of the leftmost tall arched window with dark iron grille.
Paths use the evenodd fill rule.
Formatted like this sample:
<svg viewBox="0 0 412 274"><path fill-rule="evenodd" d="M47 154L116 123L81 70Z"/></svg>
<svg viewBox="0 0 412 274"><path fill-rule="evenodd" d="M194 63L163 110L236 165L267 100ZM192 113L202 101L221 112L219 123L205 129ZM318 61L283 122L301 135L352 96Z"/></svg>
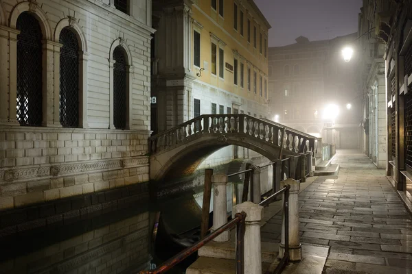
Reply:
<svg viewBox="0 0 412 274"><path fill-rule="evenodd" d="M20 31L17 35L17 121L20 125L39 126L43 120L41 27L29 12L22 12L16 28Z"/></svg>

